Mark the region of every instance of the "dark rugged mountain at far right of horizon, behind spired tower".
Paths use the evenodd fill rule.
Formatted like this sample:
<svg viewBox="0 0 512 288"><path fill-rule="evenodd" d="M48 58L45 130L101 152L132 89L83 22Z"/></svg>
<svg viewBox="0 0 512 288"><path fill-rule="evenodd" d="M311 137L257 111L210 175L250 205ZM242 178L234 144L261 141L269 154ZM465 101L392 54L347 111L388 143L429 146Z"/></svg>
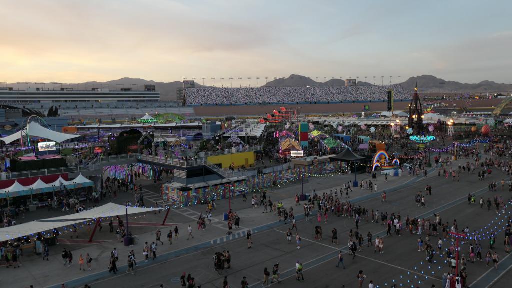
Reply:
<svg viewBox="0 0 512 288"><path fill-rule="evenodd" d="M412 91L418 83L418 90L424 93L439 93L442 90L445 93L450 92L482 92L482 93L495 93L495 92L509 92L512 91L512 85L499 84L493 81L481 81L478 84L463 84L456 81L446 81L437 78L432 75L422 75L417 77L411 77L407 81L403 82L401 86ZM442 83L442 85L441 85Z"/></svg>

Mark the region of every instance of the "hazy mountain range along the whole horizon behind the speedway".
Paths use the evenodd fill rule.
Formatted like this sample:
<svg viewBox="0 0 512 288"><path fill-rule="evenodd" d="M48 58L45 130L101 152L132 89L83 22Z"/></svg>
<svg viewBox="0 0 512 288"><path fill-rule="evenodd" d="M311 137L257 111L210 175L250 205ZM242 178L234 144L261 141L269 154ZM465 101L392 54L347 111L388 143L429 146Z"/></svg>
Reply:
<svg viewBox="0 0 512 288"><path fill-rule="evenodd" d="M396 79L395 79L396 80ZM477 84L464 84L456 81L446 81L431 75L422 75L417 77L411 77L406 81L400 83L404 89L412 91L418 84L418 89L421 93L439 93L441 88L445 93L503 93L512 92L512 85L500 84L494 81L481 81ZM60 84L60 83L14 83L7 84L7 87L13 87L14 89L25 90L27 88L35 87L46 87L53 89L63 88L74 88L77 90L89 90L91 88L106 88L108 86L111 90L118 90L120 88L132 88L133 90L142 90L144 85L155 85L156 90L160 91L160 98L162 101L173 101L176 100L176 89L183 87L181 81L174 82L155 82L153 80L145 80L139 78L121 78L118 80L112 80L108 82L96 82L90 81L80 84ZM358 86L372 86L371 83L360 81L357 83ZM326 82L317 82L309 77L292 74L288 78L279 78L268 82L263 87L339 87L345 86L345 80L342 79L330 79ZM202 86L196 82L196 88L211 88L211 86Z"/></svg>

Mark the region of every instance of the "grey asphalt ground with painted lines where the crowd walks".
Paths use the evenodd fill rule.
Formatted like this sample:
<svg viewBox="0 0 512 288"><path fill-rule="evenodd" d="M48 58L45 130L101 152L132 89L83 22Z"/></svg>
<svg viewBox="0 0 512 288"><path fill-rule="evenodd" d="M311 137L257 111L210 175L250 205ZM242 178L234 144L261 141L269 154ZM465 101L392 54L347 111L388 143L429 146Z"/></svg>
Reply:
<svg viewBox="0 0 512 288"><path fill-rule="evenodd" d="M495 180L501 179L501 175L493 175ZM361 177L358 177L358 180ZM320 177L309 180L305 184L305 193L316 190L317 193L329 192L334 187L342 185L348 180L353 180L353 176L332 176ZM418 208L414 202L414 195L417 191L423 190L429 183L433 187L433 196L428 196L426 208ZM495 194L503 194L508 198L508 192L489 193L487 192L487 182L479 181L476 175L463 174L461 182L453 182L438 177L436 172L429 175L428 178L417 178L403 176L401 178L391 177L388 183L383 179L378 180L379 191L388 192L388 202L381 203L379 195L371 195L366 190L354 190L351 194L352 202L368 208L387 211L388 213L400 212L402 217L431 217L434 213L440 213L443 221L452 222L457 219L459 227L470 227L473 230L481 230L481 233L490 231L499 231L503 229L503 219L505 215L497 215L493 211L481 210L477 205L468 205L466 195L476 193L479 197L494 197ZM150 184L144 186L149 193L155 191ZM294 183L289 186L268 193L273 201L283 201L286 207L294 205L292 196L301 192L301 184ZM132 197L130 195L120 195L121 197ZM147 196L146 196L147 197ZM123 201L123 199L117 199ZM393 283L399 287L431 287L435 284L441 286L443 273L447 271L447 264L444 258L435 256L435 263L429 264L425 261L425 254L417 252L418 236L403 232L403 236L391 236L385 240L385 254L374 254L373 249L366 246L363 251L358 253L355 260L349 255L345 255L346 270L336 269L336 255L339 250L346 251L348 241L348 232L355 229L354 219L346 217L332 217L328 223L318 224L316 219L305 221L303 216L297 217L298 233L303 240L301 249L297 250L295 244L288 244L285 232L290 225L283 222L276 222L277 217L272 213L264 214L262 208L252 209L249 202L243 202L241 198L233 199L231 205L235 211L238 211L242 218L242 229L236 231L232 236L226 237L227 225L220 221L221 215L227 210L228 201L218 201L217 210L214 213L216 219L213 225L208 226L205 232L197 231L196 219L200 212L205 211L206 207L197 205L186 209L173 210L167 220L169 223L177 223L180 227L180 239L173 242L173 245L160 245L158 247L159 257L157 260L150 260L145 263L142 256L142 241L154 241L156 227L133 227L133 231L138 235L139 243L132 248L125 248L120 243L116 243L115 236L108 233L108 227L104 227L95 240L106 241L94 245L82 245L77 243L60 244L52 247L49 262L42 262L38 256L26 256L24 266L21 269L10 270L7 274L5 268L0 272L0 283L10 287L28 287L33 284L35 287L54 286L60 287L60 283L66 282L68 287L80 287L88 283L92 287L159 287L164 284L165 287L179 287L179 277L183 272L191 273L196 278L196 282L202 287L222 287L222 279L228 276L232 287L238 287L242 277L247 277L251 287L261 286L263 270L267 267L271 270L273 264L279 262L281 265L282 287L307 286L307 287L357 287L356 275L359 270L364 270L367 275L365 287L370 280L373 280L380 287L390 287ZM297 213L302 214L301 208L296 208ZM509 209L509 211L512 211ZM39 212L36 212L39 213ZM41 213L57 213L44 212ZM61 212L59 212L61 213ZM59 214L60 215L60 214ZM509 212L506 212L509 215ZM37 216L37 215L36 215ZM32 217L27 215L27 218ZM53 217L53 216L50 216ZM142 219L131 219L130 221L159 223L163 218L162 214L148 214ZM494 222L493 222L494 221ZM186 240L186 227L191 224L194 227L195 238ZM315 225L322 225L324 229L324 239L314 240L313 229ZM245 239L245 229L253 230L253 248L247 249ZM336 228L338 230L339 244L332 243L330 231ZM165 238L166 229L163 229ZM377 223L362 221L360 232L366 235L371 231L375 236L385 235L383 226ZM384 233L382 233L384 232ZM82 236L83 235L83 236ZM382 235L382 236L383 236ZM83 229L80 237L87 236L87 229ZM501 235L500 235L501 236ZM69 237L63 237L69 238ZM435 241L437 239L432 239ZM501 241L501 242L500 242ZM503 239L498 238L498 244ZM435 241L437 242L437 241ZM483 241L484 251L486 251L487 241ZM444 246L449 246L449 241ZM75 262L80 254L90 253L94 258L93 270L90 272L81 272L76 270L78 265L74 263L70 268L65 268L60 259L60 251L67 247L74 250ZM110 275L106 272L108 257L110 251L117 247L120 254L120 272L118 275ZM125 255L130 249L134 249L138 260L138 268L135 276L124 273L126 269ZM468 246L464 244L462 253L467 251ZM215 252L223 250L230 251L232 255L232 269L218 275L213 268L213 255ZM485 287L508 268L508 263L512 257L505 258L503 245L497 245L497 251L502 257L502 264L497 272L489 271L484 262L468 264L468 273L470 274L470 283L472 287ZM296 283L294 279L294 266L296 261L302 261L305 267L305 283ZM44 263L44 264L43 264ZM488 273L487 273L488 272ZM483 276L483 277L481 277ZM501 275L503 278L495 283L495 287L503 287L502 282L510 279L510 272ZM480 278L481 277L481 278ZM480 279L479 279L480 278ZM420 282L421 281L421 282Z"/></svg>

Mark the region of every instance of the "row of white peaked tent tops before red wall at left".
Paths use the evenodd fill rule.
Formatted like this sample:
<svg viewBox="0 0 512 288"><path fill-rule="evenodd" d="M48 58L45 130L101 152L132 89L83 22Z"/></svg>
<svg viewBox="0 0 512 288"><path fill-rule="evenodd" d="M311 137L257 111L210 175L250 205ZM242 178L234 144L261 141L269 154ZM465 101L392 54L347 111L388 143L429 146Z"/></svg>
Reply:
<svg viewBox="0 0 512 288"><path fill-rule="evenodd" d="M60 187L61 183L68 189L94 186L94 182L83 177L82 174L71 181L66 181L62 179L62 177L59 177L57 181L53 183L45 183L41 179L38 179L30 186L23 186L16 181L11 187L0 190L0 199L52 192L56 187Z"/></svg>

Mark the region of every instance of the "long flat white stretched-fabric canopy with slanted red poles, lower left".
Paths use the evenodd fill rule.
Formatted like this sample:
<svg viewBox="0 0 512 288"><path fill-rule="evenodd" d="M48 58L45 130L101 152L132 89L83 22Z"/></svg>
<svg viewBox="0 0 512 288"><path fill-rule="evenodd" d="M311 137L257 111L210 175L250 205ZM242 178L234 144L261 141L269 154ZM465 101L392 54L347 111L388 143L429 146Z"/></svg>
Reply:
<svg viewBox="0 0 512 288"><path fill-rule="evenodd" d="M88 221L95 220L98 218L122 216L126 215L126 213L128 215L133 215L139 213L154 212L164 209L166 208L126 208L123 205L108 203L101 207L83 211L80 213L73 213L66 216L36 220L25 224L2 228L0 229L0 241L7 241L19 237L25 237L28 235L35 235L40 232L51 231L53 229L58 229L81 222L86 223Z"/></svg>

